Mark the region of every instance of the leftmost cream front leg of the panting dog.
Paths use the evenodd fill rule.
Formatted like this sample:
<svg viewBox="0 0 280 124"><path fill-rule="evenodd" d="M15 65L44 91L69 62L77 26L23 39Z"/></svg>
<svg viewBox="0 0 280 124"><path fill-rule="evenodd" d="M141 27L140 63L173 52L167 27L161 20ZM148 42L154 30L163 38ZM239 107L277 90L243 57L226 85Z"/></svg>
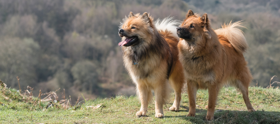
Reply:
<svg viewBox="0 0 280 124"><path fill-rule="evenodd" d="M138 96L141 101L141 108L136 113L137 116L146 116L148 111L149 101L152 100L152 91L147 87L146 83L139 82L137 84Z"/></svg>

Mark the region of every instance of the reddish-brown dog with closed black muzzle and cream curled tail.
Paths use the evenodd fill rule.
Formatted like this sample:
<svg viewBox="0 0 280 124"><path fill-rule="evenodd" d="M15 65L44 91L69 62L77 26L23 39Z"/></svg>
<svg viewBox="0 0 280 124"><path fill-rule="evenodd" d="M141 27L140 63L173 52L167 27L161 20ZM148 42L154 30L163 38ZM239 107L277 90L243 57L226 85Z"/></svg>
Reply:
<svg viewBox="0 0 280 124"><path fill-rule="evenodd" d="M243 23L238 21L213 30L206 13L199 17L192 10L177 27L179 60L188 86L187 116L195 116L197 90L208 89L206 120L212 120L218 92L225 83L241 91L247 110L255 111L248 97L248 87L253 78L243 56L248 49L240 30L243 27Z"/></svg>

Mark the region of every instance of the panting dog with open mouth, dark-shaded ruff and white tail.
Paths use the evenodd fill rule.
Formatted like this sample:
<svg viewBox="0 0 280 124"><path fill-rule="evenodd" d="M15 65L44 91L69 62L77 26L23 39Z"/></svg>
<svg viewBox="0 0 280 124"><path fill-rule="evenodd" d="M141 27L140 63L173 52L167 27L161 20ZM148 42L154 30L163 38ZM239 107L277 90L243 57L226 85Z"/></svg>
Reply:
<svg viewBox="0 0 280 124"><path fill-rule="evenodd" d="M169 99L170 85L175 100L169 108L178 111L184 85L184 72L178 59L179 37L176 27L180 22L173 18L153 21L147 12L143 15L130 12L120 24L119 36L124 67L136 84L141 108L137 116L146 116L148 103L155 94L155 117L164 117L163 104Z"/></svg>

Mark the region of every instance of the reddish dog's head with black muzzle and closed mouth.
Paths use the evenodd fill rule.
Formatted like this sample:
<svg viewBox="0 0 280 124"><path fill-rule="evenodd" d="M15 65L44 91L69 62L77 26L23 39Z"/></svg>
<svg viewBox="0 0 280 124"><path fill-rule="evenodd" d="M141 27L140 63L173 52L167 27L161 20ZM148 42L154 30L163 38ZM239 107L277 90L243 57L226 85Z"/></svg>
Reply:
<svg viewBox="0 0 280 124"><path fill-rule="evenodd" d="M203 37L211 38L209 20L207 14L202 17L189 10L184 22L177 27L177 35L187 42L201 41Z"/></svg>

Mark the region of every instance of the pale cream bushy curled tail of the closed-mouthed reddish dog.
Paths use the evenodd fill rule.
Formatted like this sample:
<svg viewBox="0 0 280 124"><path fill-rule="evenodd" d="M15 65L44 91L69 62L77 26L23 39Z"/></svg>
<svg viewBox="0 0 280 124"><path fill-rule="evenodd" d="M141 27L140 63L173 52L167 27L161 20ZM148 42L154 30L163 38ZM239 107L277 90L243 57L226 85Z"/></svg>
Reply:
<svg viewBox="0 0 280 124"><path fill-rule="evenodd" d="M241 28L246 28L241 21L230 22L222 25L221 29L215 30L217 35L224 36L239 53L244 53L249 48Z"/></svg>

